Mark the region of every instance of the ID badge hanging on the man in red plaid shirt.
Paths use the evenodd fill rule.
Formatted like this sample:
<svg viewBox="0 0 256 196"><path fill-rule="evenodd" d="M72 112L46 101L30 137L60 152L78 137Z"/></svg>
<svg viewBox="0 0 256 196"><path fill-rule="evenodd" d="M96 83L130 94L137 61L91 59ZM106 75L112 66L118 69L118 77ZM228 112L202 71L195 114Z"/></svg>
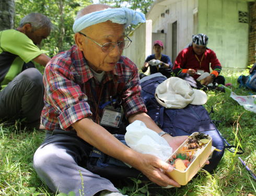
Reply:
<svg viewBox="0 0 256 196"><path fill-rule="evenodd" d="M100 125L119 128L123 113L120 109L104 108Z"/></svg>

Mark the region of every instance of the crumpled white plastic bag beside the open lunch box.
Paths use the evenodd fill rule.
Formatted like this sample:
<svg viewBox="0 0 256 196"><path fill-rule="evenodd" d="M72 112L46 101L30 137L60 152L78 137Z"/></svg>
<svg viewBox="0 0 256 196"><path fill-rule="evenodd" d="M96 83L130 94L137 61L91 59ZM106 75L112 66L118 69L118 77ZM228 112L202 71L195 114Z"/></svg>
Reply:
<svg viewBox="0 0 256 196"><path fill-rule="evenodd" d="M155 155L162 161L172 154L168 142L155 131L148 129L140 120L135 120L126 127L124 139L131 149L143 154Z"/></svg>

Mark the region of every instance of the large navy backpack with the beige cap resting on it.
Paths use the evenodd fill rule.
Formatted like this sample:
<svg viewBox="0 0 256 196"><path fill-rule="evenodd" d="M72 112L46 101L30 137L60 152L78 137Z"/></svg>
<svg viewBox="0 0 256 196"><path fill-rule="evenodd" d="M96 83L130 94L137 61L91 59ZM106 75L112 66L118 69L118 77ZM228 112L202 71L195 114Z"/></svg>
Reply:
<svg viewBox="0 0 256 196"><path fill-rule="evenodd" d="M213 146L221 150L214 151L210 164L203 169L211 172L224 155L225 142L208 112L202 105L191 105L182 109L165 108L155 99L155 90L158 84L167 78L160 73L141 79L142 98L147 108L147 114L165 132L172 136L190 136L193 132L203 132L213 139Z"/></svg>

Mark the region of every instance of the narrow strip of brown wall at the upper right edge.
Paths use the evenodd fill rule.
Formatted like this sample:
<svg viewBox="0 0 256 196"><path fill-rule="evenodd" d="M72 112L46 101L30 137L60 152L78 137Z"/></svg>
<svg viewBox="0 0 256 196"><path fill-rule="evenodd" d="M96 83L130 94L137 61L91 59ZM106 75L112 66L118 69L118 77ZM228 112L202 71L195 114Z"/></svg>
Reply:
<svg viewBox="0 0 256 196"><path fill-rule="evenodd" d="M249 64L256 63L256 3L249 3Z"/></svg>

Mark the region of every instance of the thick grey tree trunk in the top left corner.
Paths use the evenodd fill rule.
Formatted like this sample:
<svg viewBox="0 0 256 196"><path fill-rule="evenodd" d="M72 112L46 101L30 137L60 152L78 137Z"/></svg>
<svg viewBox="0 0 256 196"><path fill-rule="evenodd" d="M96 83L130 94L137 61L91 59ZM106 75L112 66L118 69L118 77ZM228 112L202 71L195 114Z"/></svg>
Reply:
<svg viewBox="0 0 256 196"><path fill-rule="evenodd" d="M0 1L0 31L14 28L14 0Z"/></svg>

